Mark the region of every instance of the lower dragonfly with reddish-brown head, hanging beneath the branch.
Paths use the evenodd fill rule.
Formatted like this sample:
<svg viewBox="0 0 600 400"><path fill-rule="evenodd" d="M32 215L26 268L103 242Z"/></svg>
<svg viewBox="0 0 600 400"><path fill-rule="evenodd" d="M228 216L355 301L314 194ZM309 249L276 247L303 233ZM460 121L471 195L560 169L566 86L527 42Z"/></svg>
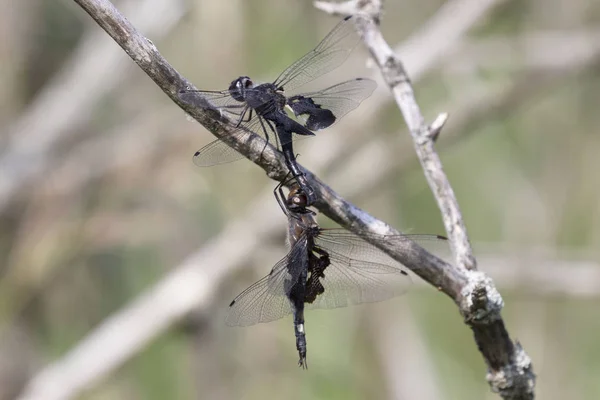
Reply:
<svg viewBox="0 0 600 400"><path fill-rule="evenodd" d="M290 250L271 272L239 294L229 305L226 324L249 326L293 315L298 365L306 361L306 309L331 309L378 302L406 292L411 278L400 263L344 229L324 229L307 208L297 184L287 197L283 183L275 197L288 218ZM440 235L371 235L375 241L415 241L430 247L446 244Z"/></svg>

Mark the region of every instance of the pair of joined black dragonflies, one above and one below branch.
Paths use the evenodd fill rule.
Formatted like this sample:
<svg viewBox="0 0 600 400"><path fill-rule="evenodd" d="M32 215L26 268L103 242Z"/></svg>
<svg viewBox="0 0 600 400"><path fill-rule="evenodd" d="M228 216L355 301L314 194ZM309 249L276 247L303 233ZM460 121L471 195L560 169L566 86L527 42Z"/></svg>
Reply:
<svg viewBox="0 0 600 400"><path fill-rule="evenodd" d="M321 229L308 207L315 192L301 172L293 141L333 125L371 95L376 84L357 78L321 91L287 95L337 68L358 43L351 17L345 18L315 47L285 69L272 83L255 85L247 76L227 90L183 90L182 100L217 109L234 135L254 133L268 143L275 139L295 180L285 196L282 184L275 197L288 218L290 250L269 275L250 286L230 304L227 324L248 326L293 314L299 365L306 368L305 308L336 308L375 302L403 293L410 277L375 246L343 229ZM286 113L286 108L295 118ZM265 144L266 146L266 144ZM198 166L223 164L242 155L217 139L194 154ZM440 241L436 235L374 236L370 241Z"/></svg>

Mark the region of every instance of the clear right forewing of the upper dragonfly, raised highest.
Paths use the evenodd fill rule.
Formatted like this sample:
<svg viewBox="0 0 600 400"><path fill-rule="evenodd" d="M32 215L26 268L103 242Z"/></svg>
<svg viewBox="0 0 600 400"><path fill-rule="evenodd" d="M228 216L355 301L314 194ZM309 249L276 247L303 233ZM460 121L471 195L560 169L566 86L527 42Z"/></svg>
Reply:
<svg viewBox="0 0 600 400"><path fill-rule="evenodd" d="M317 47L290 65L273 83L288 91L316 79L342 65L358 40L352 17L346 17Z"/></svg>

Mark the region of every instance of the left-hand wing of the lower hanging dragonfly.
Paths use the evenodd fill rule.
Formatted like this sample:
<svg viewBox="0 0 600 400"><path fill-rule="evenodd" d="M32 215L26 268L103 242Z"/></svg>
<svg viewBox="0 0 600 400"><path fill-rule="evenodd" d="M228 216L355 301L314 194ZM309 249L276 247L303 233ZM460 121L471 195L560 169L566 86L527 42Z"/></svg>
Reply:
<svg viewBox="0 0 600 400"><path fill-rule="evenodd" d="M287 291L300 275L297 260L306 257L306 240L296 242L290 252L271 270L269 275L240 293L229 305L225 320L229 326L248 326L271 322L292 312Z"/></svg>

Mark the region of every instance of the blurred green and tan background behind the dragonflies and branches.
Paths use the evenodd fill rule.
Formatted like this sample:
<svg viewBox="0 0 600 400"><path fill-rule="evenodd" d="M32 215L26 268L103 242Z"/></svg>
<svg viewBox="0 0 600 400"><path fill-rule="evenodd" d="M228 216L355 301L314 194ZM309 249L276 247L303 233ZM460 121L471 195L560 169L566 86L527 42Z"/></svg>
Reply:
<svg viewBox="0 0 600 400"><path fill-rule="evenodd" d="M450 113L437 147L538 398L597 399L600 2L482 1L464 35L431 34L476 3L387 1L382 30L426 117ZM337 22L298 0L115 4L214 90L273 79ZM497 398L457 308L418 278L392 301L308 313L308 371L290 318L226 328L229 301L285 254L275 182L247 161L195 167L211 135L74 2L0 0L0 38L0 399ZM319 85L369 76L378 91L299 161L399 229L442 234L367 58ZM78 352L107 326L116 340Z"/></svg>

